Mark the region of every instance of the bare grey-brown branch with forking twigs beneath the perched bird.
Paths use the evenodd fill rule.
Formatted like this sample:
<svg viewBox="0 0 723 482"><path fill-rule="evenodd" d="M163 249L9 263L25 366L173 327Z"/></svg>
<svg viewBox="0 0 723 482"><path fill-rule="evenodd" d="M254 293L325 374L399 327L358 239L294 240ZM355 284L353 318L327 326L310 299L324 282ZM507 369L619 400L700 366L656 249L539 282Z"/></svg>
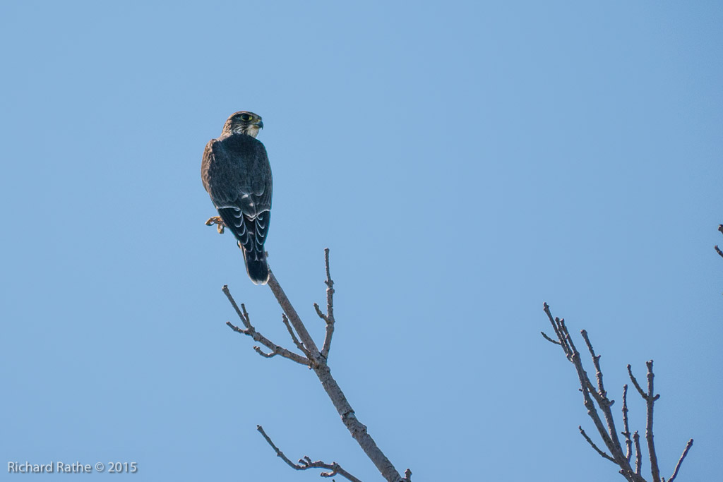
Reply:
<svg viewBox="0 0 723 482"><path fill-rule="evenodd" d="M219 232L221 232L221 224L219 224L216 220L213 220L212 222L212 220L209 220L207 224L218 224ZM367 426L365 426L359 421L359 419L356 418L356 414L351 408L351 405L348 403L348 400L346 400L346 397L341 391L341 388L339 387L333 376L331 376L331 370L327 361L329 358L331 341L334 334L335 318L334 282L331 279L329 269L329 249L324 250L324 260L326 267L326 280L324 283L327 286L326 313L321 311L318 304L314 304L314 309L317 315L326 324L326 335L321 350L319 350L315 341L312 339L311 335L309 335L307 327L304 325L303 322L301 322L299 314L296 313L296 309L294 309L294 306L291 305L291 301L288 300L286 293L284 293L281 285L279 285L278 283L278 280L276 280L275 275L270 270L270 277L268 281L269 288L271 288L271 291L273 292L276 301L278 301L278 304L283 310L281 320L286 326L286 330L291 337L291 341L292 343L294 343L296 349L299 350L299 352L301 353L296 353L296 351L289 350L288 348L284 348L281 345L277 345L276 343L273 343L267 337L262 335L260 332L258 332L251 324L251 320L246 310L246 306L244 306L244 304L241 304L241 308L239 309L239 306L238 304L236 304L234 297L231 296L231 293L228 291L228 286L223 287L223 293L226 294L228 301L231 302L231 306L233 306L234 310L236 310L236 314L241 319L241 323L244 327L237 327L231 322L226 322L226 324L228 324L228 327L231 327L231 330L252 337L254 341L257 341L261 345L268 348L268 350L270 350L267 353L259 346L254 346L254 350L256 350L256 352L259 353L261 356L265 358L273 358L274 356L279 355L283 358L287 358L288 360L294 361L304 366L308 366L310 369L312 369L318 376L322 387L324 387L324 390L330 397L332 403L334 404L334 407L341 416L341 420L343 421L348 431L351 433L351 436L354 437L357 443L359 443L359 446L361 447L361 449L364 450L364 453L367 454L369 460L372 460L372 462L374 462L377 469L380 471L385 480L387 480L388 482L411 482L411 470L407 469L404 473L404 477L399 475L398 471L394 468L392 462L390 462L390 460L379 449L374 439L372 439L372 436L369 435L367 431ZM278 455L278 457L281 457L281 459L286 462L290 467L296 470L322 468L325 470L330 470L330 472L322 472L320 474L322 477L333 477L334 475L341 475L344 478L347 478L349 481L359 482L358 478L354 477L354 475L351 475L351 473L348 473L346 470L341 468L341 465L339 465L337 462L326 463L322 462L321 460L312 462L312 460L307 456L299 459L298 463L291 462L291 460L289 460L286 455L283 455L283 452L281 452L281 450L276 447L276 445L272 442L270 437L266 434L266 432L261 426L258 426L257 429L260 434L262 434L266 442L268 442L268 444L275 450L276 455Z"/></svg>

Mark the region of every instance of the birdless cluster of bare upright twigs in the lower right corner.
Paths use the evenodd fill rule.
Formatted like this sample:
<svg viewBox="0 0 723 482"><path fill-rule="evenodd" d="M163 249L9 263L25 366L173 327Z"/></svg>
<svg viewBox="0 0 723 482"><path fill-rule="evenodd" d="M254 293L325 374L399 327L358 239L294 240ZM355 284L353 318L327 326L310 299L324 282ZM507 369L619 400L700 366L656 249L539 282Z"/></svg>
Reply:
<svg viewBox="0 0 723 482"><path fill-rule="evenodd" d="M555 331L555 336L557 337L557 340L554 340L552 337L545 335L544 332L542 332L542 336L549 342L555 343L555 345L560 345L560 347L562 347L562 351L565 353L565 357L568 358L568 361L570 361L570 363L573 363L573 366L575 366L576 372L578 374L578 381L580 382L580 390L583 394L583 404L585 405L588 415L593 421L595 428L600 434L600 437L604 442L604 449L607 449L607 452L605 452L604 449L598 447L592 441L588 434L585 433L582 426L578 426L580 433L582 434L586 442L601 457L603 457L605 460L609 460L610 462L615 463L620 468L620 474L622 474L627 481L646 482L646 479L643 478L643 476L641 475L642 455L640 434L638 434L638 431L635 431L631 436L628 424L628 385L625 384L623 386L623 431L620 432L620 434L625 437L625 449L623 449L623 446L620 443L620 438L617 436L617 431L615 429L615 418L612 415L611 409L612 405L615 403L615 400L610 400L607 396L607 392L605 391L603 384L602 369L600 368L600 356L595 354L595 350L592 346L592 343L590 342L587 332L585 330L581 330L581 335L583 337L583 340L585 340L587 350L590 353L592 363L595 368L595 384L591 382L587 372L583 367L580 353L578 352L575 343L573 343L572 337L570 337L568 327L565 325L565 319L560 319L557 317L553 318L547 303L543 304L543 309L545 314L547 314L547 318L549 319L550 324L552 325L552 330ZM641 395L643 400L645 400L646 402L646 442L648 445L648 455L651 466L651 481L665 482L665 478L662 478L660 476L660 470L657 455L655 452L653 437L653 408L655 401L658 400L660 395L654 395L653 391L653 361L648 361L646 363L646 366L648 367L647 390L643 390L640 384L638 384L638 380L633 375L633 370L631 369L630 365L628 365L628 376L630 376L630 381L633 382L633 386L636 387L638 394ZM630 459L633 456L633 446L635 447L634 468L630 465ZM673 471L673 474L670 476L667 482L675 481L678 470L680 470L680 465L683 463L685 456L688 455L688 451L692 446L693 439L690 439L690 441L688 441L688 444L685 446L685 449L683 450L683 455L680 456L677 465L675 465L675 470Z"/></svg>

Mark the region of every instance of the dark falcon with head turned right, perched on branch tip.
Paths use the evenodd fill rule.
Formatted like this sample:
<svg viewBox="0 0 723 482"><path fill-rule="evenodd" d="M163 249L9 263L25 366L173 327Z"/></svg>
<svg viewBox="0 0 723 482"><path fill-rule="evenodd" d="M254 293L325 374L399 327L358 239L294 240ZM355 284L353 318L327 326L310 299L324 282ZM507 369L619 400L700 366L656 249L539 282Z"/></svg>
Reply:
<svg viewBox="0 0 723 482"><path fill-rule="evenodd" d="M263 126L261 116L253 112L231 114L221 136L206 145L201 163L203 186L223 224L236 236L246 271L257 285L269 279L264 242L271 217L271 165L266 148L256 139Z"/></svg>

